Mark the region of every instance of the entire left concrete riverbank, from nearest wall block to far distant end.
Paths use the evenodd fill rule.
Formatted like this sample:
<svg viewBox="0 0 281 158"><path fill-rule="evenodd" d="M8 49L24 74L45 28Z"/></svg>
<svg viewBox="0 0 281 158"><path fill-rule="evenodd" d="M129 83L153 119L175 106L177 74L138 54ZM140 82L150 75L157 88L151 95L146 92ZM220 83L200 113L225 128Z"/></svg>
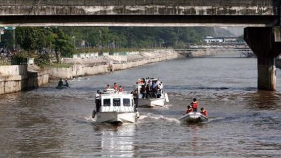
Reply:
<svg viewBox="0 0 281 158"><path fill-rule="evenodd" d="M35 65L0 66L0 94L38 88L46 84L49 79L72 79L125 70L165 60L230 53L232 53L230 50L222 51L222 49L211 48L183 53L174 49L144 49L127 52L127 55L109 55L108 53L103 56L87 57L85 55L83 58L63 58L62 64L55 64L44 69Z"/></svg>

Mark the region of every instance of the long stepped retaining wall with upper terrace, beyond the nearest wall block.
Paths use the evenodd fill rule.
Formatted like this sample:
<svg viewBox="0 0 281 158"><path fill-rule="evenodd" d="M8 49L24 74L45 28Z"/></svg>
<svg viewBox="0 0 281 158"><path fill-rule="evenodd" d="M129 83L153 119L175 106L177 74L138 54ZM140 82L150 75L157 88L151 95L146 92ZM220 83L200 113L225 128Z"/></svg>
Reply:
<svg viewBox="0 0 281 158"><path fill-rule="evenodd" d="M163 50L153 52L140 52L139 54L127 56L126 61L119 60L119 58L118 60L114 60L113 57L97 57L95 59L92 59L92 63L90 59L84 59L85 63L87 64L74 64L69 68L48 68L48 71L51 79L72 79L73 77L96 75L109 71L125 70L149 63L172 60L180 57L183 56L179 53ZM69 61L70 63L83 63L83 59Z"/></svg>

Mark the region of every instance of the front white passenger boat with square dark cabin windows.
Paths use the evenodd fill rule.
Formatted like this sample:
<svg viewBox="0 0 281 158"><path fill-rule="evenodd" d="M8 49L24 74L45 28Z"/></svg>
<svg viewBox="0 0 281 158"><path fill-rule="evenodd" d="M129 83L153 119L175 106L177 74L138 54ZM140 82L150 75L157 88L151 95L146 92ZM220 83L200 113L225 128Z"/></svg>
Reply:
<svg viewBox="0 0 281 158"><path fill-rule="evenodd" d="M135 123L140 117L132 94L108 89L101 94L100 99L99 111L95 109L92 115L97 123Z"/></svg>

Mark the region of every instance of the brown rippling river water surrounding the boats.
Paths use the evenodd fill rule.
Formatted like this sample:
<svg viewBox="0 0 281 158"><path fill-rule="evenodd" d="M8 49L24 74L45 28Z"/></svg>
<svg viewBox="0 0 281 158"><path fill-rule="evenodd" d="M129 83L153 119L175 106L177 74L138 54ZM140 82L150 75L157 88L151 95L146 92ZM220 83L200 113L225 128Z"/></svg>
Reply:
<svg viewBox="0 0 281 158"><path fill-rule="evenodd" d="M170 103L140 108L136 124L96 124L94 93L159 78ZM276 92L258 91L257 59L238 55L165 61L0 96L0 158L281 158L281 71ZM196 97L206 123L179 122Z"/></svg>

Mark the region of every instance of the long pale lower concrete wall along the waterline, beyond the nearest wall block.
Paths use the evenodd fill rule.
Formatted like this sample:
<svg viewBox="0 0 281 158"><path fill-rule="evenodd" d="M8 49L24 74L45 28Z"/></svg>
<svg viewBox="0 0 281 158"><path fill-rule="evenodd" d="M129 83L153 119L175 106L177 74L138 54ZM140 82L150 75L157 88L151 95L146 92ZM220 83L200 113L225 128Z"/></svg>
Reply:
<svg viewBox="0 0 281 158"><path fill-rule="evenodd" d="M164 60L177 59L182 57L179 53L164 52L150 53L143 52L141 55L128 56L127 62L107 61L107 64L92 63L92 64L75 64L70 68L48 68L51 79L71 79L77 76L87 76L102 74L109 71L109 63L112 63L112 71L124 70L128 68L138 67L144 64L160 62Z"/></svg>

